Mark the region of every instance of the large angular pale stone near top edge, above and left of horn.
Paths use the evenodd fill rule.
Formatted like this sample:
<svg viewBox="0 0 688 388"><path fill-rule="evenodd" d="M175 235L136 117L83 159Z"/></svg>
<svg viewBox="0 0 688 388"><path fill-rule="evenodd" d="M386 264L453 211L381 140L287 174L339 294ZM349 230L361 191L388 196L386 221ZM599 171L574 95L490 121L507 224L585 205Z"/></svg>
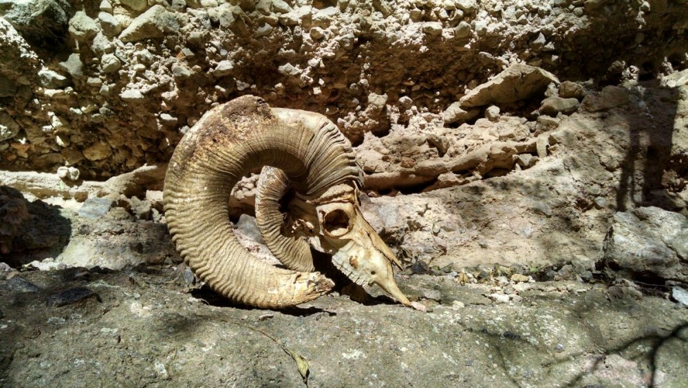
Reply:
<svg viewBox="0 0 688 388"><path fill-rule="evenodd" d="M162 38L165 34L179 32L179 22L173 12L168 12L163 6L156 4L131 21L120 34L122 42L136 42L142 39Z"/></svg>

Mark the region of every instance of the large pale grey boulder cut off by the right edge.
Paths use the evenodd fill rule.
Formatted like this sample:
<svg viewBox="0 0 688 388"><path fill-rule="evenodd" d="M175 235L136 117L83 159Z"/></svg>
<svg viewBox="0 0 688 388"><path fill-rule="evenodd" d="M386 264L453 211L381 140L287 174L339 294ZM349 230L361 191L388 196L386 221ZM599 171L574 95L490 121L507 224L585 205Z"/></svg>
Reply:
<svg viewBox="0 0 688 388"><path fill-rule="evenodd" d="M614 214L601 261L621 272L688 281L688 218L655 207Z"/></svg>

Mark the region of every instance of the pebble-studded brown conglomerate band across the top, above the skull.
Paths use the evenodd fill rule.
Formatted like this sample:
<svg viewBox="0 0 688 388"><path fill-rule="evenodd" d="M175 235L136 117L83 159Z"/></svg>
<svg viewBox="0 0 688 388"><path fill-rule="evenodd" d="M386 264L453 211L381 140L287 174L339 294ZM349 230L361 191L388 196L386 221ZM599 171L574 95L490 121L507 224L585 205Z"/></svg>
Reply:
<svg viewBox="0 0 688 388"><path fill-rule="evenodd" d="M242 94L327 114L361 144L472 123L482 111L469 107L508 116L504 100L535 98L532 111L557 79L594 87L685 67L685 7L589 3L0 1L0 99L18 125L2 132L0 166L100 180L164 162L204 111ZM583 98L579 84L559 89Z"/></svg>

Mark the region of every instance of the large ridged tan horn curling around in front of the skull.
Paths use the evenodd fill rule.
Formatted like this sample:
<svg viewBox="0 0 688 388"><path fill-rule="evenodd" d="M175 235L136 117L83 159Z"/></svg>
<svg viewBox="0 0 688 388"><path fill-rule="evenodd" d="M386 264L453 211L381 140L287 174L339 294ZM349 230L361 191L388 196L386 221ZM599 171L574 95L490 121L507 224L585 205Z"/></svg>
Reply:
<svg viewBox="0 0 688 388"><path fill-rule="evenodd" d="M230 192L247 171L266 165L284 171L305 196L362 180L350 143L330 120L242 96L206 112L178 144L165 178L165 216L184 261L213 290L237 303L283 308L333 283L258 261L233 234Z"/></svg>

